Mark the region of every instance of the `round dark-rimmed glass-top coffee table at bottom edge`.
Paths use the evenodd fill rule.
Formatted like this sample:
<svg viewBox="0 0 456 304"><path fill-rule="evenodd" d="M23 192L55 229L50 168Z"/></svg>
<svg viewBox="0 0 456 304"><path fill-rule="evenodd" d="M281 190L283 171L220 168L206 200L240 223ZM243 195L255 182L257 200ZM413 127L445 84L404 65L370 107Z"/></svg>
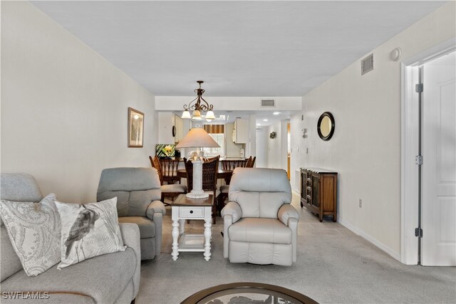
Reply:
<svg viewBox="0 0 456 304"><path fill-rule="evenodd" d="M263 283L229 283L201 290L181 304L315 304L302 293Z"/></svg>

